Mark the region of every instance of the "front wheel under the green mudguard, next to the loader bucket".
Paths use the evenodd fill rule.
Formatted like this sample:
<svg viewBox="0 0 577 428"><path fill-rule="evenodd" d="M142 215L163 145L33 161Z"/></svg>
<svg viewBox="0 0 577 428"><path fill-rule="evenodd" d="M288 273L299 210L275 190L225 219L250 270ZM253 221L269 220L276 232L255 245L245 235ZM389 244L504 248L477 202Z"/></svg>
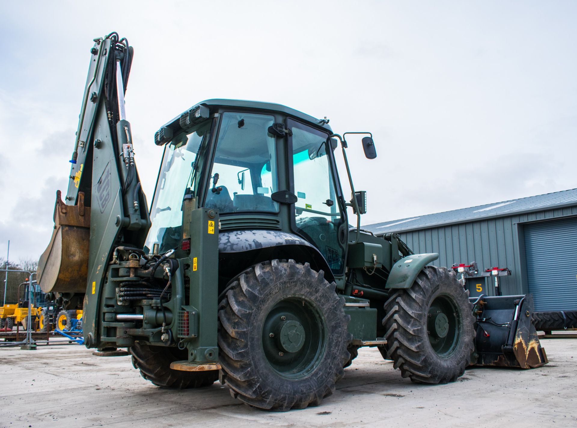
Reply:
<svg viewBox="0 0 577 428"><path fill-rule="evenodd" d="M426 266L411 288L385 303L387 359L403 377L423 384L454 382L474 348L468 293L447 268Z"/></svg>

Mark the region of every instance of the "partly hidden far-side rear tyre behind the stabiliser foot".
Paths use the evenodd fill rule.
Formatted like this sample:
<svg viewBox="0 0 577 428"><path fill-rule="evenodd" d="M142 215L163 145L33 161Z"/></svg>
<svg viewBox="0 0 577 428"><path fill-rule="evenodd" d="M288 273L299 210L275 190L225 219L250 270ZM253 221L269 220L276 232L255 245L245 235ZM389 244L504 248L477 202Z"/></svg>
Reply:
<svg viewBox="0 0 577 428"><path fill-rule="evenodd" d="M140 370L140 376L156 386L168 389L203 388L218 380L218 370L173 370L170 364L188 359L186 350L175 347L150 346L134 343L129 348L132 365Z"/></svg>

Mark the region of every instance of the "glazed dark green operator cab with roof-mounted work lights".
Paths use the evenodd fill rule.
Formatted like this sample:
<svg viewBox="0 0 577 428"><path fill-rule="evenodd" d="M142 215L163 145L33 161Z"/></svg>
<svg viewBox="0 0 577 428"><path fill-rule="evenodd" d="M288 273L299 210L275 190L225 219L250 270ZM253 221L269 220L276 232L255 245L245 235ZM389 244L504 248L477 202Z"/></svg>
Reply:
<svg viewBox="0 0 577 428"><path fill-rule="evenodd" d="M190 126L182 126L183 115L193 117ZM190 194L198 207L219 212L221 232L288 232L316 247L334 275L343 273L346 209L325 121L279 104L233 100L210 100L183 115L159 131L168 144L145 250L178 247L182 200Z"/></svg>

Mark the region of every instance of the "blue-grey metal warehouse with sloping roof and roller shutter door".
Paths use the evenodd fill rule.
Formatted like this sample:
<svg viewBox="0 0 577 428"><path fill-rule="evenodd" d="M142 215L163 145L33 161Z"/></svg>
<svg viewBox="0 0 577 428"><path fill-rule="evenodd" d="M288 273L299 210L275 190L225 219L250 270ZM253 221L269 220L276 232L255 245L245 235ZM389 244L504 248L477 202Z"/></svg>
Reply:
<svg viewBox="0 0 577 428"><path fill-rule="evenodd" d="M467 279L494 295L497 266L503 294L533 293L535 310L577 309L577 189L456 209L364 226L376 235L397 232L415 253L439 253L434 264L477 262L479 273ZM477 284L480 284L479 286Z"/></svg>

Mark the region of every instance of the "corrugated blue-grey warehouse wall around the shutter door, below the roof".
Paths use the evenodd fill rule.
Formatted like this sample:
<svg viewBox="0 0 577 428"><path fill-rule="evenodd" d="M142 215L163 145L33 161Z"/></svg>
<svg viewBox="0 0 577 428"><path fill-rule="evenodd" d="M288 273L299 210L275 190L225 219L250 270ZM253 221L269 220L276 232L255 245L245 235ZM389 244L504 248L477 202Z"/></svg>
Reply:
<svg viewBox="0 0 577 428"><path fill-rule="evenodd" d="M439 260L434 263L439 266L476 261L479 271L493 266L509 268L512 275L501 277L503 294L523 294L527 292L527 284L522 224L571 215L577 215L577 206L399 232L399 235L415 253L439 253Z"/></svg>

